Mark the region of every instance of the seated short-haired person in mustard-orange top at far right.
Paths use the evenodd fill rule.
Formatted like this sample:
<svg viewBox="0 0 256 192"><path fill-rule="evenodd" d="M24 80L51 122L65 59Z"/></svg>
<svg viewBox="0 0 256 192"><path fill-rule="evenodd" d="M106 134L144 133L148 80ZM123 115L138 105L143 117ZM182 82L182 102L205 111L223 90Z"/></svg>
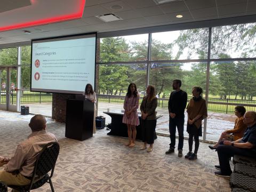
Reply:
<svg viewBox="0 0 256 192"><path fill-rule="evenodd" d="M243 137L244 131L247 128L243 122L245 112L246 109L244 106L235 107L235 115L237 118L235 121L234 129L222 132L219 141L214 146L209 146L210 149L216 149L222 140L235 141Z"/></svg>

